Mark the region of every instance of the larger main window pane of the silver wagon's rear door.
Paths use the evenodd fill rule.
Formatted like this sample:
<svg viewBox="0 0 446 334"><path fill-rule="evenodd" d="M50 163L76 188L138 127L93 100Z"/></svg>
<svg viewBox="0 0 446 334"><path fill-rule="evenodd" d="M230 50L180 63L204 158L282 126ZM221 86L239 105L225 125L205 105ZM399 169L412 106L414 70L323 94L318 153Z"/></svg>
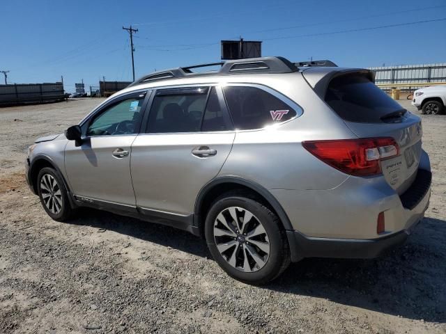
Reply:
<svg viewBox="0 0 446 334"><path fill-rule="evenodd" d="M158 90L148 116L148 132L199 132L208 89Z"/></svg>

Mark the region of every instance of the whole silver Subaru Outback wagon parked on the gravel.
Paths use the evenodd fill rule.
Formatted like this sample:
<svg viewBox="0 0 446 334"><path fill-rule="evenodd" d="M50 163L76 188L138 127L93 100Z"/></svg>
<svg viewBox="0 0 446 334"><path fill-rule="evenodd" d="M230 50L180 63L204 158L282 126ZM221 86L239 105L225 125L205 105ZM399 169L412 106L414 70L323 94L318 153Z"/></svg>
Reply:
<svg viewBox="0 0 446 334"><path fill-rule="evenodd" d="M373 72L282 57L219 65L148 74L39 138L26 177L47 214L95 207L187 230L252 284L304 257L376 257L406 240L431 167L420 118Z"/></svg>

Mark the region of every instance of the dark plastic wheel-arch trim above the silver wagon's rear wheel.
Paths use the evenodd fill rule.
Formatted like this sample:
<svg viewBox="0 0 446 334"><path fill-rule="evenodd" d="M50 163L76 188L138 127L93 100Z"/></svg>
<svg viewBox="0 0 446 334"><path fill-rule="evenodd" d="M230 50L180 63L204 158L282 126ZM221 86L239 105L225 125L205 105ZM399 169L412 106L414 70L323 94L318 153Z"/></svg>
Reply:
<svg viewBox="0 0 446 334"><path fill-rule="evenodd" d="M242 177L224 176L217 177L203 186L195 201L193 224L200 230L201 235L203 235L206 213L208 212L208 209L210 209L210 205L212 204L213 200L215 200L215 198L221 193L238 189L250 191L256 195L261 200L263 205L277 214L285 230L293 230L291 221L289 220L282 205L280 205L277 199L272 196L272 193L270 193L268 189L256 182L245 180Z"/></svg>

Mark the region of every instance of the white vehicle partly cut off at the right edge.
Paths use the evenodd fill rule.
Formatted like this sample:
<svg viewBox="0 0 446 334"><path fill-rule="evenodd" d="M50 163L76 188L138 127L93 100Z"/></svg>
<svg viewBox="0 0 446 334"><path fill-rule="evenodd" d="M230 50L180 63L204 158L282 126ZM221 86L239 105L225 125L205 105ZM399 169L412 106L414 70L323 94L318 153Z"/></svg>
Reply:
<svg viewBox="0 0 446 334"><path fill-rule="evenodd" d="M426 115L445 113L446 85L420 88L413 93L412 105Z"/></svg>

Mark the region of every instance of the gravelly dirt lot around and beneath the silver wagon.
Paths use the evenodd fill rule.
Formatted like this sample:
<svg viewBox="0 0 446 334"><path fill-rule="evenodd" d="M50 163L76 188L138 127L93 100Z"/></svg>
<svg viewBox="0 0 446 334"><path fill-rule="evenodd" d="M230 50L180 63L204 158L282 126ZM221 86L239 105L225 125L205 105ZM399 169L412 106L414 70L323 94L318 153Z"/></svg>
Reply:
<svg viewBox="0 0 446 334"><path fill-rule="evenodd" d="M65 224L45 214L24 182L26 147L99 102L0 109L0 333L446 333L446 116L423 117L431 205L405 246L304 260L252 287L185 232L94 210Z"/></svg>

